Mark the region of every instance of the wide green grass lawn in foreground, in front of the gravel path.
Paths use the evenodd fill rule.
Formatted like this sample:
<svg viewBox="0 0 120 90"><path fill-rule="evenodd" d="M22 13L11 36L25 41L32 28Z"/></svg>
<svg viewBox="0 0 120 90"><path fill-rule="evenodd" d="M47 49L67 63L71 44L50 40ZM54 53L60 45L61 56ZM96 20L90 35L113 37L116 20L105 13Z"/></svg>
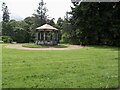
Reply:
<svg viewBox="0 0 120 90"><path fill-rule="evenodd" d="M3 88L117 88L118 49L27 51L3 47Z"/></svg>

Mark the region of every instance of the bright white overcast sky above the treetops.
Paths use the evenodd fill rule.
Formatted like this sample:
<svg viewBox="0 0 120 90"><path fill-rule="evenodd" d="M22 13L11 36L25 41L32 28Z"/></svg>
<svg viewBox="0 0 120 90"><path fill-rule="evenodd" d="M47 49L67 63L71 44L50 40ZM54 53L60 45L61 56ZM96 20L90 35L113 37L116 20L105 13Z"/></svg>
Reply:
<svg viewBox="0 0 120 90"><path fill-rule="evenodd" d="M31 16L38 8L41 0L0 0L0 5L5 2L8 6L11 19L21 20ZM64 17L66 11L71 11L71 0L44 0L48 9L47 15L50 18ZM2 8L0 8L2 10ZM2 11L0 10L0 20L2 19Z"/></svg>

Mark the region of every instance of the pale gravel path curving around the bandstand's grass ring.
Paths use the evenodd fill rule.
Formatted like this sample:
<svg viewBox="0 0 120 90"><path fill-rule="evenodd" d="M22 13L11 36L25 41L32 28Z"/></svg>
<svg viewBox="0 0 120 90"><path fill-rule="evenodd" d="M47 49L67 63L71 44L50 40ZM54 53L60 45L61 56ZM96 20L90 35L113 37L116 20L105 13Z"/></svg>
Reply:
<svg viewBox="0 0 120 90"><path fill-rule="evenodd" d="M49 47L49 48L26 48L22 47L22 44L10 44L5 46L6 48L12 48L12 49L19 49L19 50L74 50L74 49L80 49L83 48L80 45L69 45L67 48L54 48L54 47Z"/></svg>

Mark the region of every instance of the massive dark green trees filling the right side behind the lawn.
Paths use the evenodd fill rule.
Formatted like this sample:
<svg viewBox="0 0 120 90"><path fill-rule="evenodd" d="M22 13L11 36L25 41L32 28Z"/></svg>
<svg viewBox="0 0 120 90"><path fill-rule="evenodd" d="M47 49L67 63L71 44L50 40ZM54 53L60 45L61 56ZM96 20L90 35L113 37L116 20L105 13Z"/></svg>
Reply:
<svg viewBox="0 0 120 90"><path fill-rule="evenodd" d="M69 36L69 43L120 45L119 3L82 2L71 9L72 16L62 25L63 33Z"/></svg>

